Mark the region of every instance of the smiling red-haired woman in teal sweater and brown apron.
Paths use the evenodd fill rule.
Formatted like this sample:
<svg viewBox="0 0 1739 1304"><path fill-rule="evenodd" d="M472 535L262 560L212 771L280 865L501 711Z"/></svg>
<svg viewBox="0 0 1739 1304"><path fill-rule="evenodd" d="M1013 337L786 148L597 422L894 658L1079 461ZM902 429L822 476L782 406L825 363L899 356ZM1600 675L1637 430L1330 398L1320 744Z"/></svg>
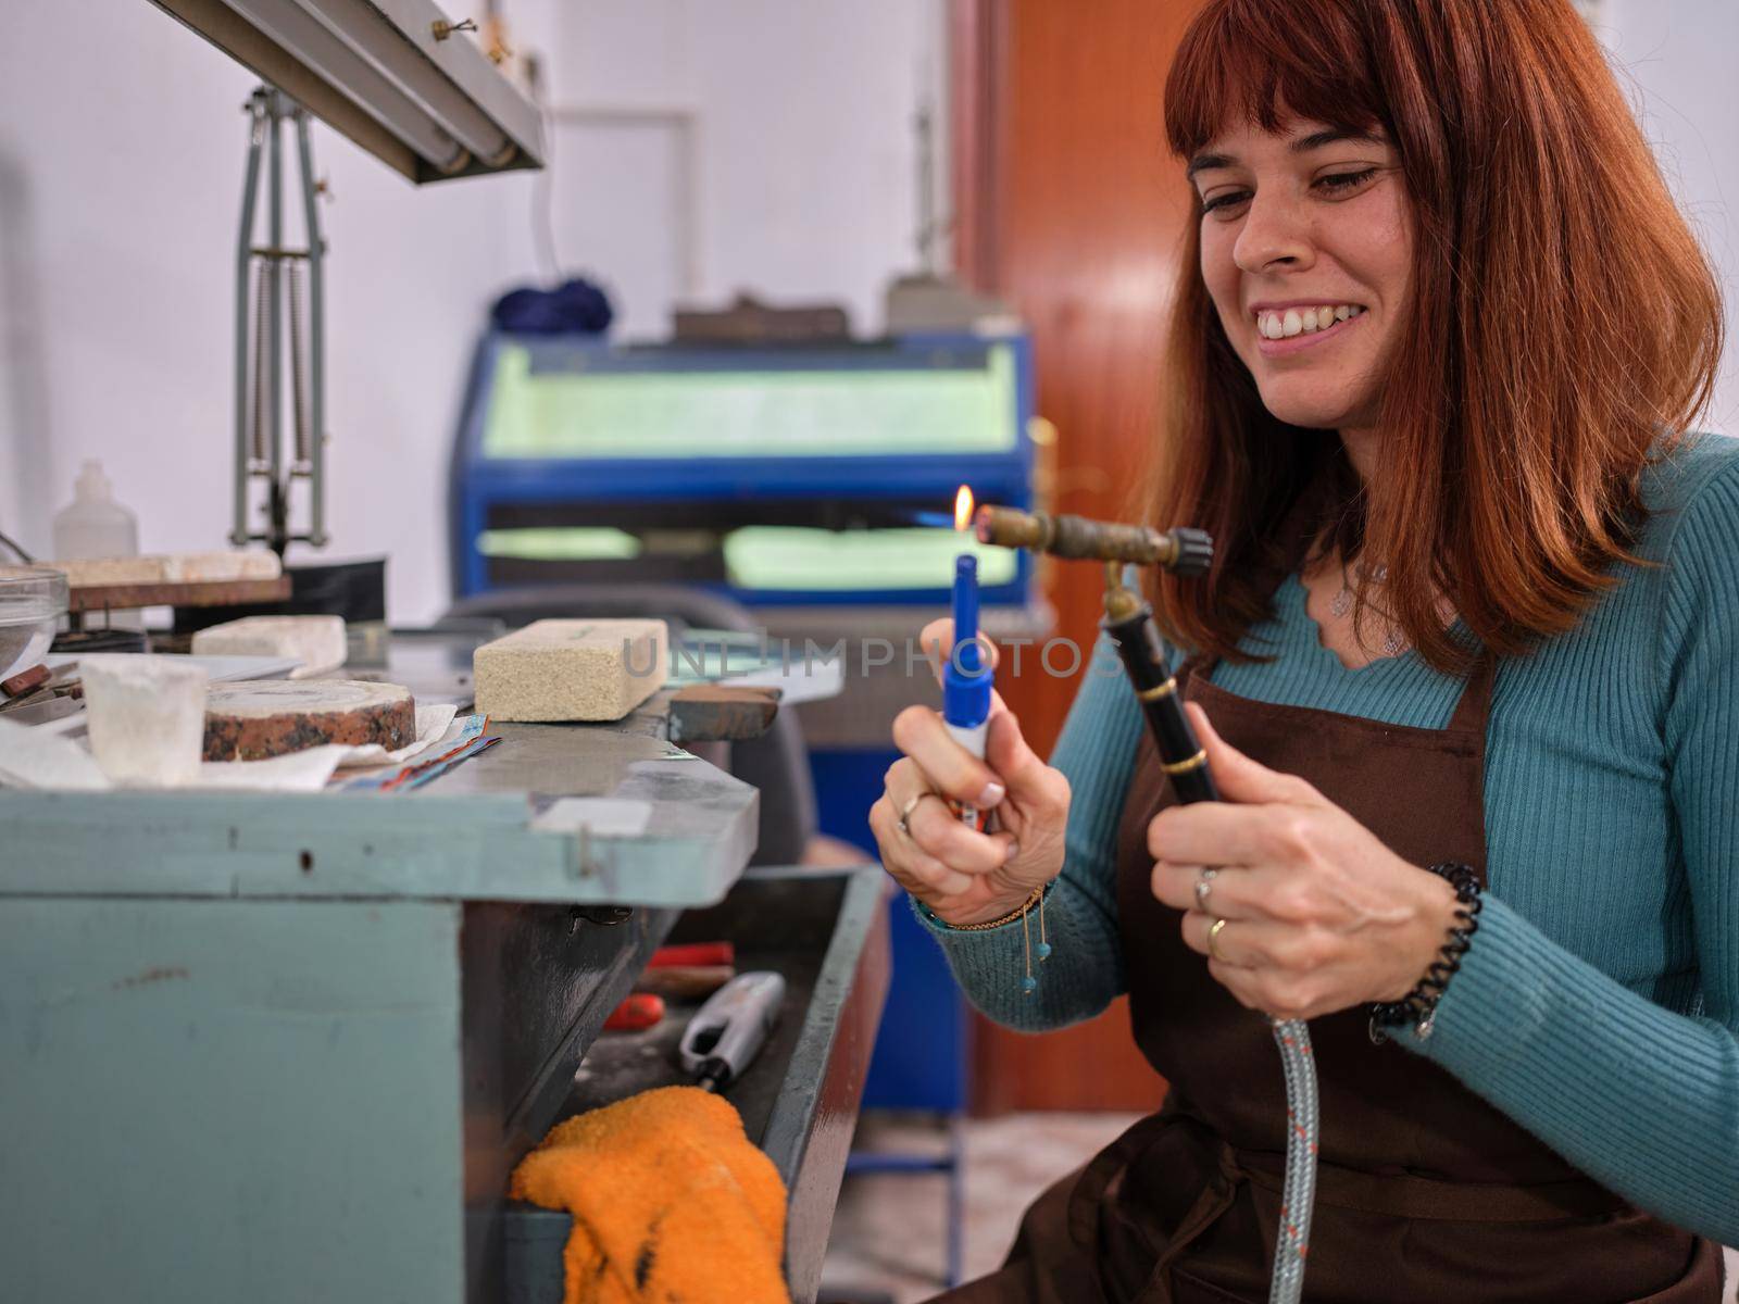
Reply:
<svg viewBox="0 0 1739 1304"><path fill-rule="evenodd" d="M1739 1241L1739 443L1708 263L1569 0L1209 0L1146 502L1224 802L1101 649L1054 765L934 711L871 812L972 1000L1170 1083L949 1299L1713 1304ZM943 631L946 633L946 631ZM943 798L996 810L976 833ZM1043 911L1045 944L1024 982Z"/></svg>

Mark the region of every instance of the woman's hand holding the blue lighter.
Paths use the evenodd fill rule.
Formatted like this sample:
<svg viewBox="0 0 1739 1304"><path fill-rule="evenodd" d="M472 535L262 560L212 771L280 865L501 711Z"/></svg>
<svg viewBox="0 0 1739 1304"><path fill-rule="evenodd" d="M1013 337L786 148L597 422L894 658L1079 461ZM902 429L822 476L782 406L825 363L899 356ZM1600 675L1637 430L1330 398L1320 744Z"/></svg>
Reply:
<svg viewBox="0 0 1739 1304"><path fill-rule="evenodd" d="M927 624L922 640L946 661L953 622ZM1000 695L991 708L984 760L955 742L941 713L927 706L899 713L894 746L904 756L889 768L885 789L870 808L870 829L887 871L943 923L1000 918L1061 873L1069 781L1026 746ZM962 822L948 798L989 808L995 831L979 833Z"/></svg>

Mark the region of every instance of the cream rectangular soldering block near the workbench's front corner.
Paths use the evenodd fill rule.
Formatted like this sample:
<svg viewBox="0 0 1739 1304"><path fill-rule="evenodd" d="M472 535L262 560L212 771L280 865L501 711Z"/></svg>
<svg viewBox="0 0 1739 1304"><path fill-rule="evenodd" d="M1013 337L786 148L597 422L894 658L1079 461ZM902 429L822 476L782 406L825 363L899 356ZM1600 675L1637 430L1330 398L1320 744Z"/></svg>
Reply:
<svg viewBox="0 0 1739 1304"><path fill-rule="evenodd" d="M663 621L534 621L471 657L490 720L621 720L664 687Z"/></svg>

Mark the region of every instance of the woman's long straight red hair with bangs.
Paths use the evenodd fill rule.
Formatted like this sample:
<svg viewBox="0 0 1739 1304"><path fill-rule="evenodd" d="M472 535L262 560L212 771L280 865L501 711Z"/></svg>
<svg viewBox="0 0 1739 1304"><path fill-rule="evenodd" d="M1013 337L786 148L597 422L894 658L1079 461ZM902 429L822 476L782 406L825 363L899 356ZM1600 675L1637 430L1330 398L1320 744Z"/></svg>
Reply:
<svg viewBox="0 0 1739 1304"><path fill-rule="evenodd" d="M1280 527L1327 485L1311 537L1344 558L1386 542L1383 610L1429 664L1469 652L1440 596L1492 652L1525 652L1616 582L1642 471L1709 400L1709 264L1569 0L1209 0L1165 87L1172 150L1290 118L1381 127L1402 162L1414 266L1377 475L1362 489L1336 431L1263 407L1202 280L1198 202L1144 506L1210 530L1217 556L1205 582L1155 577L1160 622L1250 659L1236 642L1268 614ZM1602 304L1622 329L1579 329Z"/></svg>

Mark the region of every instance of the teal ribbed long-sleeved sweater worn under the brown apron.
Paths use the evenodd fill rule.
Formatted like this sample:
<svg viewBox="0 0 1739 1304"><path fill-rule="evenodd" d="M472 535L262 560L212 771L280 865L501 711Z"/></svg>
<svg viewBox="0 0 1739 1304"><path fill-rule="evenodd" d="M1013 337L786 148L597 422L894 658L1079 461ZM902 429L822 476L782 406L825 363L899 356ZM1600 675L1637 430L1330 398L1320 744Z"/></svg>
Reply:
<svg viewBox="0 0 1739 1304"><path fill-rule="evenodd" d="M1499 666L1480 932L1431 1038L1398 1045L1642 1208L1739 1245L1739 440L1680 450L1645 501L1638 553L1664 565L1624 567L1574 631ZM1275 659L1214 683L1266 702L1442 729L1461 692L1416 654L1341 666L1296 575L1243 647ZM1057 1028L1123 991L1113 859L1141 727L1101 647L1054 756L1075 796L1035 995L1019 927L930 925L998 1022Z"/></svg>

